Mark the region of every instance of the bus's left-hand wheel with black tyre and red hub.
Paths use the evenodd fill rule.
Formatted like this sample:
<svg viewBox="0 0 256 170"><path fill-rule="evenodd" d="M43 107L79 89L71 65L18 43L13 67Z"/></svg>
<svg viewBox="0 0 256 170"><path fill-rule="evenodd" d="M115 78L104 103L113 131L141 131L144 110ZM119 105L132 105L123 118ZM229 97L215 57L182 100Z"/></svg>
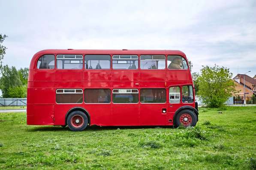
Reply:
<svg viewBox="0 0 256 170"><path fill-rule="evenodd" d="M66 122L71 131L83 131L88 125L88 117L82 111L72 111Z"/></svg>

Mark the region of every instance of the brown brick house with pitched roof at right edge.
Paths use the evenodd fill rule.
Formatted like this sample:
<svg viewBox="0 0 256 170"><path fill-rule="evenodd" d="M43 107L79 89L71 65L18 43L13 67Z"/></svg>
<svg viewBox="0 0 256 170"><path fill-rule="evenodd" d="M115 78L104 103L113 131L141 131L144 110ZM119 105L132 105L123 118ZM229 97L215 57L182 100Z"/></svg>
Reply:
<svg viewBox="0 0 256 170"><path fill-rule="evenodd" d="M246 74L238 74L233 78L237 93L235 96L243 97L256 95L256 75L252 78ZM244 88L245 87L245 88Z"/></svg>

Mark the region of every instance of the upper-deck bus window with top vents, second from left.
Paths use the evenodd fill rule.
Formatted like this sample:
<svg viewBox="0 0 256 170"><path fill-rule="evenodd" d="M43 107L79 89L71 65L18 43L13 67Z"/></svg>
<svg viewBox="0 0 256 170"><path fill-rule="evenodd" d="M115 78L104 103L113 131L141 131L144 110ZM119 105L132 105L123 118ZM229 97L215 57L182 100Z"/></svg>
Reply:
<svg viewBox="0 0 256 170"><path fill-rule="evenodd" d="M57 55L58 69L82 69L82 55Z"/></svg>

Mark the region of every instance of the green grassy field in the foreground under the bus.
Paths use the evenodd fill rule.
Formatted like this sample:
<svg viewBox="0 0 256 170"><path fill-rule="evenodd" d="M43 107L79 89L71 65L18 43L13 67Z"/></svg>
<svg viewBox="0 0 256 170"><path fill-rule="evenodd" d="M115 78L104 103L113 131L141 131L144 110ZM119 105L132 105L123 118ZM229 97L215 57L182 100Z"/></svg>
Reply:
<svg viewBox="0 0 256 170"><path fill-rule="evenodd" d="M196 128L27 126L0 113L0 169L255 169L256 107L200 108Z"/></svg>

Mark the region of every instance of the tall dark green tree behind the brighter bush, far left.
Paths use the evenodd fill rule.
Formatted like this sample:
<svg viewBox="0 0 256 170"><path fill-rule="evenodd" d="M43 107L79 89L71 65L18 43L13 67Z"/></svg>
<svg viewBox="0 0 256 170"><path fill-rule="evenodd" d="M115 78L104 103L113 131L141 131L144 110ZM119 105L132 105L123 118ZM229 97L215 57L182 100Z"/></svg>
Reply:
<svg viewBox="0 0 256 170"><path fill-rule="evenodd" d="M20 75L15 67L5 65L1 69L0 89L4 98L9 97L9 88L22 86Z"/></svg>

